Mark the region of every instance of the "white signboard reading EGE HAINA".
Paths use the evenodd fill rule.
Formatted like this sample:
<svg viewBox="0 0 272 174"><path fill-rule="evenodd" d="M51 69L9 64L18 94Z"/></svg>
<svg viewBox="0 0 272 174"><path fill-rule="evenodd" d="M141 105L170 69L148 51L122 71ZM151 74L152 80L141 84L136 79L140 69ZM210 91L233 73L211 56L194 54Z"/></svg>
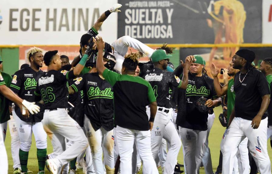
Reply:
<svg viewBox="0 0 272 174"><path fill-rule="evenodd" d="M1 0L0 45L75 45L117 0ZM121 9L122 10L122 9ZM98 31L117 39L117 14L109 15Z"/></svg>

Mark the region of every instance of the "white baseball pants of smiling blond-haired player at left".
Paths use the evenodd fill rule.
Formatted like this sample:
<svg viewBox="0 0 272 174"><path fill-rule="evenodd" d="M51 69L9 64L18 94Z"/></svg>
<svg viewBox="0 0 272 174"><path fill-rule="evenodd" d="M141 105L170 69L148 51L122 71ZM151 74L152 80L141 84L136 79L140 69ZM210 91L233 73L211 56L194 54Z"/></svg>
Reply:
<svg viewBox="0 0 272 174"><path fill-rule="evenodd" d="M20 138L20 149L25 152L29 152L31 142L32 142L32 132L35 137L36 147L39 149L47 148L47 135L43 130L42 122L25 122L22 121L15 113L12 111L13 118L19 127L19 138Z"/></svg>

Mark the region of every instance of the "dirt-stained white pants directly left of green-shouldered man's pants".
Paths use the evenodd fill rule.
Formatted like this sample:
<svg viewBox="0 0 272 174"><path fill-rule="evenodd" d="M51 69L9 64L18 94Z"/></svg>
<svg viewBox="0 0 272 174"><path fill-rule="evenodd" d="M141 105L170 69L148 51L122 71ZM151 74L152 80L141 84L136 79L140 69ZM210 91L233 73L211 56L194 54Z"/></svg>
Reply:
<svg viewBox="0 0 272 174"><path fill-rule="evenodd" d="M104 153L104 163L107 174L114 173L114 135L113 129L106 131L103 127L97 131L91 125L90 119L85 115L84 127L87 139L91 148L92 161L97 174L104 173L102 154Z"/></svg>

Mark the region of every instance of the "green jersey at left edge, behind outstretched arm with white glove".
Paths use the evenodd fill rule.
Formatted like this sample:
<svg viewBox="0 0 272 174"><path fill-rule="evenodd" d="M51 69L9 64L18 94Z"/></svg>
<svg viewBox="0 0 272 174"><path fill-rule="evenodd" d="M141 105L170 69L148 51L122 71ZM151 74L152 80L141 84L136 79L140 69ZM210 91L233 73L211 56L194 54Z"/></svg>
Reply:
<svg viewBox="0 0 272 174"><path fill-rule="evenodd" d="M2 77L4 79L5 85L7 87L10 86L12 77L7 74L1 72ZM10 119L9 117L9 102L2 94L0 94L0 123L4 123Z"/></svg>

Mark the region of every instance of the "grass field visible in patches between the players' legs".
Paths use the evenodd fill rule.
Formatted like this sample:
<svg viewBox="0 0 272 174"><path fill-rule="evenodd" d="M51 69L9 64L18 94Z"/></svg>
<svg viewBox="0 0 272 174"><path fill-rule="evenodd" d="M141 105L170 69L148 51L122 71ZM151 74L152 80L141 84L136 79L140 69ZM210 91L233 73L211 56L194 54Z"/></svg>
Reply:
<svg viewBox="0 0 272 174"><path fill-rule="evenodd" d="M214 124L212 126L212 130L210 132L210 136L209 136L209 147L211 149L211 156L212 156L212 167L214 172L216 171L217 165L218 165L218 161L219 161L219 149L220 149L220 141L222 138L222 135L224 133L225 128L223 128L218 120L218 115L222 112L222 109L220 107L215 108L215 121ZM9 130L9 129L8 129ZM8 154L8 159L9 159L9 174L12 174L13 172L13 162L12 162L12 156L11 156L11 150L10 150L10 134L9 131L7 131L7 136L6 136L6 140L5 140L5 146L6 146L6 150L7 150L7 154ZM37 161L37 157L36 157L36 145L35 145L35 139L34 136L32 136L32 145L30 148L30 152L29 152L29 159L28 159L28 168L33 171L33 173L37 173L38 172L38 161ZM52 145L50 140L47 140L48 142L48 147L47 147L47 154L51 153L53 151ZM267 142L268 145L268 153L270 156L270 161L272 159L272 150L270 147L270 142ZM0 157L1 158L1 157ZM180 164L183 164L183 155L182 155L182 150L180 151L179 155L178 155L178 162ZM181 168L181 170L183 170L183 168ZM46 173L49 174L48 170L46 170ZM77 172L79 174L81 174L82 172L79 171ZM204 174L204 168L201 167L200 169L200 173Z"/></svg>

